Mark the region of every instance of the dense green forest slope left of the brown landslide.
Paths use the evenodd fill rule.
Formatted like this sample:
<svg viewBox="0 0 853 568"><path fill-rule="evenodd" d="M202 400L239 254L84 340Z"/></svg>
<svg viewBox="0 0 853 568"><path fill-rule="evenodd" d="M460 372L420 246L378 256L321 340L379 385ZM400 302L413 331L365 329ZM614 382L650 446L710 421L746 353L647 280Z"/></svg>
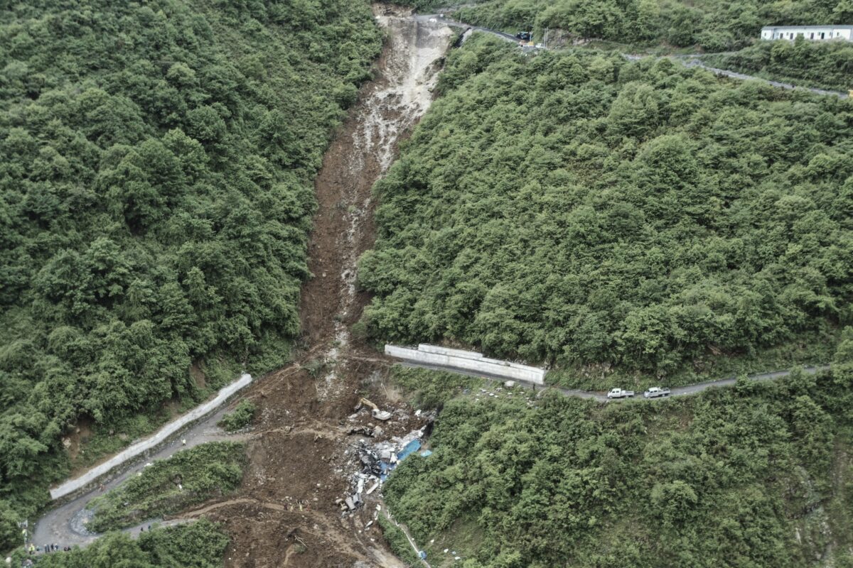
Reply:
<svg viewBox="0 0 853 568"><path fill-rule="evenodd" d="M78 420L289 358L313 177L380 47L363 1L4 4L0 548Z"/></svg>

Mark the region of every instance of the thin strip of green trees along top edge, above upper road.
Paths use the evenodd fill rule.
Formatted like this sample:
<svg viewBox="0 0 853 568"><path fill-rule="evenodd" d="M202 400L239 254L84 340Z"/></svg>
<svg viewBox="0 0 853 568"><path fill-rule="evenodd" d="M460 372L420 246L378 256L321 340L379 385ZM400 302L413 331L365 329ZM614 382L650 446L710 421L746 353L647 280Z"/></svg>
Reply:
<svg viewBox="0 0 853 568"><path fill-rule="evenodd" d="M412 3L422 9L448 4ZM539 40L548 27L572 39L696 45L707 51L740 49L756 39L763 26L853 23L850 0L479 0L457 4L462 7L452 14L461 21L513 33L534 30Z"/></svg>

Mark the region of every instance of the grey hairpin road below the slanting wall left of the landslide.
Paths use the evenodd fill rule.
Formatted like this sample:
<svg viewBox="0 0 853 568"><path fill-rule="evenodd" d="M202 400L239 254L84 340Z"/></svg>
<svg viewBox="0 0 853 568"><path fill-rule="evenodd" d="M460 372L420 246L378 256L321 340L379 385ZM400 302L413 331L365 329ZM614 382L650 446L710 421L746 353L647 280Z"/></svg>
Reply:
<svg viewBox="0 0 853 568"><path fill-rule="evenodd" d="M147 456L141 456L139 459L131 461L131 466L126 468L121 473L113 473L112 479L104 482L104 491L113 489L125 479L140 472L145 464L153 460L165 459L178 450L186 450L195 445L204 444L218 440L241 440L247 439L246 435L233 435L225 433L222 428L216 424L222 419L223 414L229 409L230 404L223 404L223 407L212 415L203 418L196 422L187 430L176 433L171 441L154 450L154 453ZM187 440L184 446L181 443L182 439ZM93 491L77 496L72 501L67 502L61 507L57 507L44 513L41 519L38 519L32 532L32 543L37 547L44 547L45 544L58 544L60 548L65 546L86 545L94 542L98 534L86 531L86 522L90 517L90 512L86 510L86 506L96 496L102 494L102 491L97 488ZM173 520L161 522L160 519L147 520L144 523L125 529L124 532L131 536L138 536L140 529L147 528L148 525L160 522L161 525L177 525L181 520Z"/></svg>

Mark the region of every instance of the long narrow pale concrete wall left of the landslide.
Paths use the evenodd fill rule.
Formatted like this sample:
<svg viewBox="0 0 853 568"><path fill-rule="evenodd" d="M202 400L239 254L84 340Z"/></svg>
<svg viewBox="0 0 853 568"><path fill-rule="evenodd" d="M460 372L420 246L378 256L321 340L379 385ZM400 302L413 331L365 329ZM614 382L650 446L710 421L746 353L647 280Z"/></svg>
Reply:
<svg viewBox="0 0 853 568"><path fill-rule="evenodd" d="M91 468L88 472L84 473L78 478L69 479L59 487L50 490L50 498L51 499L59 499L61 496L66 496L69 493L73 493L78 489L89 485L102 475L109 473L113 468L118 468L123 463L128 460L133 459L136 456L154 448L157 445L162 444L165 439L167 439L171 434L176 433L178 430L189 424L190 422L195 422L199 420L203 416L206 416L213 410L216 410L221 406L226 400L228 400L234 393L240 391L242 388L247 387L252 382L251 375L243 375L235 382L232 382L227 387L223 387L220 389L219 393L216 395L214 399L208 400L204 404L200 404L195 407L193 410L190 410L187 414L169 422L164 427L160 428L153 436L150 438L146 438L136 442L136 444L131 445L126 450L119 451L118 454L108 459L106 462L103 462L101 465L96 466L95 468Z"/></svg>

